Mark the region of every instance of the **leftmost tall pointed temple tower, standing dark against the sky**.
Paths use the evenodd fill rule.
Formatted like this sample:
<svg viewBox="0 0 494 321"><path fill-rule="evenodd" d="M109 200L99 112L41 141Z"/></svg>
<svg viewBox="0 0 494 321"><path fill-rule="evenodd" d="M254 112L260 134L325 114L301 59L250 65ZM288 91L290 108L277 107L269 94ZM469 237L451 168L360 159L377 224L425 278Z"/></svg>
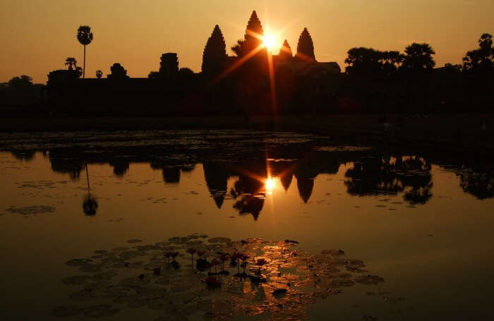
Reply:
<svg viewBox="0 0 494 321"><path fill-rule="evenodd" d="M201 69L205 75L215 75L224 67L226 60L227 45L224 42L222 30L219 29L219 25L215 25L204 47Z"/></svg>

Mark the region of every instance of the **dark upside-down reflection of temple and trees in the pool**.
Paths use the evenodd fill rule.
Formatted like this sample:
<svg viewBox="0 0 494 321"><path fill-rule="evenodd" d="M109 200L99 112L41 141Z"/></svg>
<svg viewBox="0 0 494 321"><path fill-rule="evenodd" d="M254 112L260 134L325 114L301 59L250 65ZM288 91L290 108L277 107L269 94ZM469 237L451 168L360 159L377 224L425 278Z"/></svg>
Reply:
<svg viewBox="0 0 494 321"><path fill-rule="evenodd" d="M222 208L226 198L233 200L239 214L260 215L265 202L265 181L268 176L279 178L284 190L291 187L296 178L296 188L303 202L311 200L315 178L320 174L337 174L340 164L353 166L345 171L344 184L350 195L403 195L405 202L425 204L433 197L433 181L430 160L418 156L385 155L378 152L314 152L302 145L275 147L266 153L253 150L210 150L193 152L171 151L167 154L138 151L131 156L122 150L84 152L76 149L54 149L44 153L49 157L52 170L68 174L72 180L80 179L85 164L104 164L113 167L114 175L121 177L129 170L131 162L147 162L152 169L162 171L165 184L178 184L181 175L202 163L204 179L217 208ZM29 161L34 153L14 154ZM27 156L26 156L27 155ZM222 159L218 158L222 155ZM459 167L457 167L459 168ZM474 168L474 167L472 167ZM494 197L492 168L454 170L460 178L460 186L476 198ZM231 186L229 187L229 181Z"/></svg>

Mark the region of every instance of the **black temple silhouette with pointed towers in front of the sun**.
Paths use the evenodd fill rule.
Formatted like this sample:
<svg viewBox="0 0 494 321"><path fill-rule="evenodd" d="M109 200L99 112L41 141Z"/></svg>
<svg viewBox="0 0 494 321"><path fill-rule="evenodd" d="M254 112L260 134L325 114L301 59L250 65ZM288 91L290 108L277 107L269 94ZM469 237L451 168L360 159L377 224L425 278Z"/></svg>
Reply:
<svg viewBox="0 0 494 321"><path fill-rule="evenodd" d="M263 27L253 11L244 39L227 55L219 25L203 52L202 70L179 68L176 53L164 53L158 71L131 78L125 63L114 63L107 78L81 78L80 69L52 71L45 97L49 114L79 116L270 114L294 110L296 104L327 102L339 83L336 62L319 62L307 28L292 54L287 40L279 54L263 46ZM271 78L271 80L270 80Z"/></svg>

